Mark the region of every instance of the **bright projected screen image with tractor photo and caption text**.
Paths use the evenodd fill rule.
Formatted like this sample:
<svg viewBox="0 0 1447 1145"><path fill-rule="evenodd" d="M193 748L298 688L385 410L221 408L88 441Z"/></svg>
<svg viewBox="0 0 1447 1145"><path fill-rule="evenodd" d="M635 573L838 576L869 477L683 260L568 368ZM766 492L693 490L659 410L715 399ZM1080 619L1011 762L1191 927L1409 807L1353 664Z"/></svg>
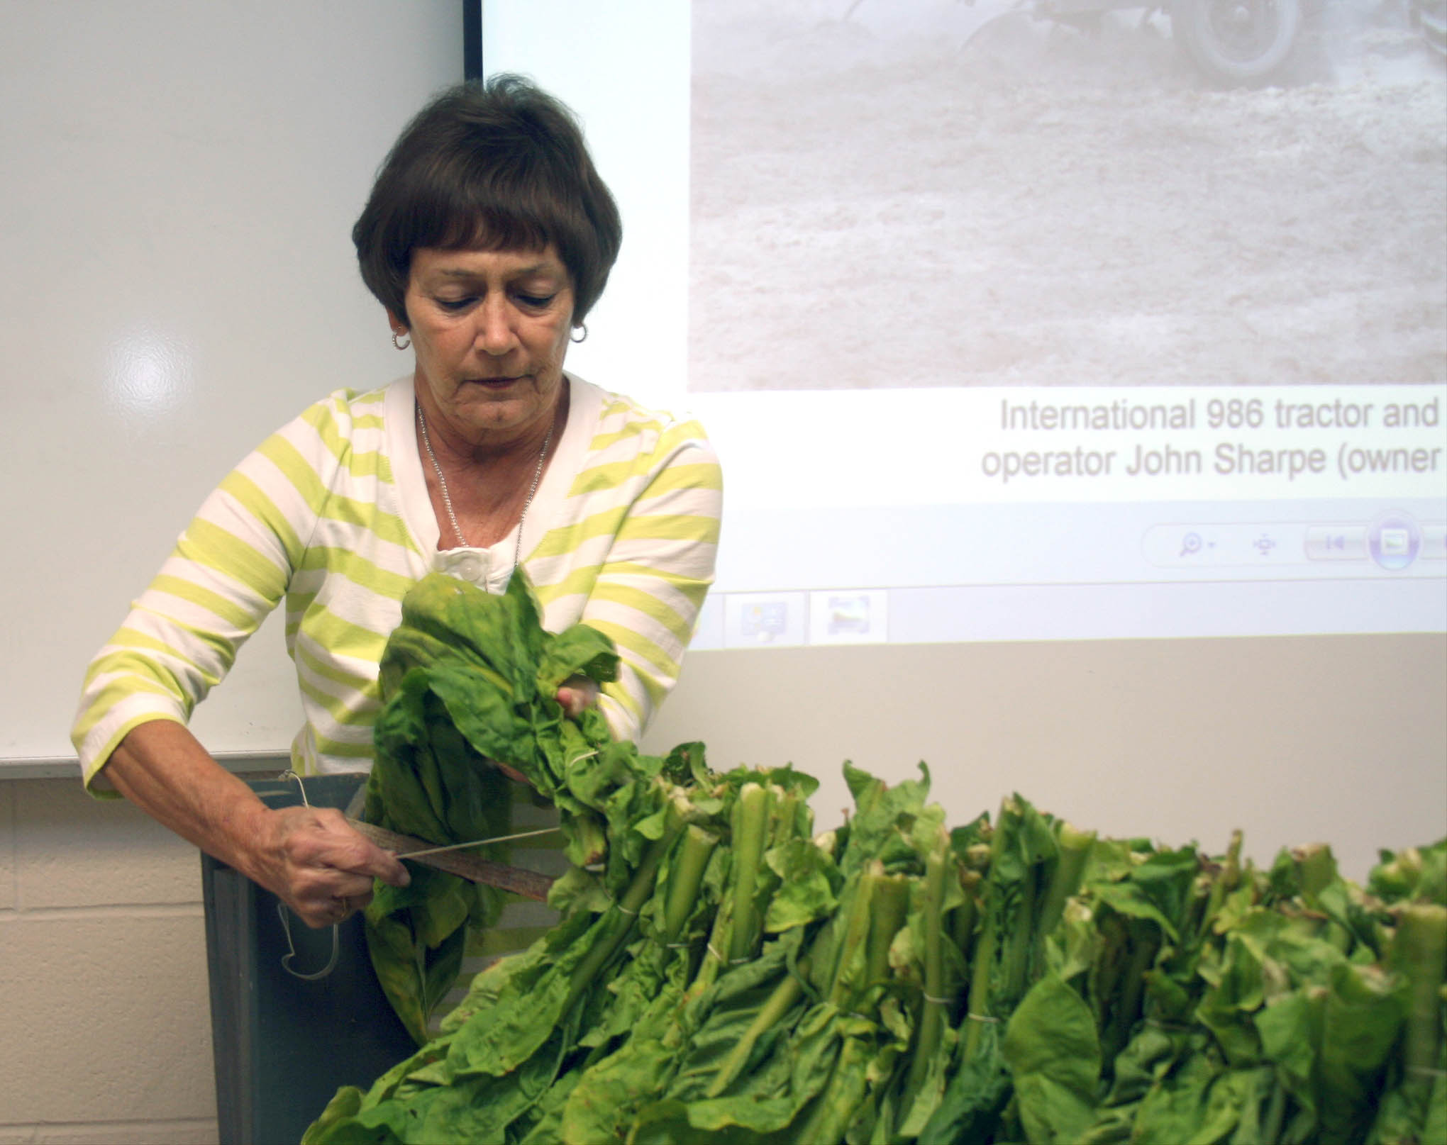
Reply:
<svg viewBox="0 0 1447 1145"><path fill-rule="evenodd" d="M1431 61L1006 12L483 6L624 204L570 364L725 458L695 648L1447 629Z"/></svg>

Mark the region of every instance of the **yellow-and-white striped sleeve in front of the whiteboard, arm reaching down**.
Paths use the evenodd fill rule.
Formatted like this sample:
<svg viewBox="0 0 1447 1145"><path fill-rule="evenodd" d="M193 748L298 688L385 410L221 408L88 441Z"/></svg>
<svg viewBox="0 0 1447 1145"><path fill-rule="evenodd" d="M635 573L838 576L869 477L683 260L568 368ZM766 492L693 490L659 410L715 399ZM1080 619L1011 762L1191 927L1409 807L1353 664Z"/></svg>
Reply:
<svg viewBox="0 0 1447 1145"><path fill-rule="evenodd" d="M281 601L336 468L346 398L318 402L227 474L91 662L71 732L87 786L133 727L185 723Z"/></svg>

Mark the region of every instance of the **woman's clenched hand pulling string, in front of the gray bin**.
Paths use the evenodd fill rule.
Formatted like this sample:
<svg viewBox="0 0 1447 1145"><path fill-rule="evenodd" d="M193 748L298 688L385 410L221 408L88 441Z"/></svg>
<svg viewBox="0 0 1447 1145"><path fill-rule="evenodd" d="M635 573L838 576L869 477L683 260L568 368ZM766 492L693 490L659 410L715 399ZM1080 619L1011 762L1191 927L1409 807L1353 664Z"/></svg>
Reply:
<svg viewBox="0 0 1447 1145"><path fill-rule="evenodd" d="M372 879L407 886L411 876L391 852L355 831L330 807L268 810L253 878L308 927L343 922L372 901Z"/></svg>

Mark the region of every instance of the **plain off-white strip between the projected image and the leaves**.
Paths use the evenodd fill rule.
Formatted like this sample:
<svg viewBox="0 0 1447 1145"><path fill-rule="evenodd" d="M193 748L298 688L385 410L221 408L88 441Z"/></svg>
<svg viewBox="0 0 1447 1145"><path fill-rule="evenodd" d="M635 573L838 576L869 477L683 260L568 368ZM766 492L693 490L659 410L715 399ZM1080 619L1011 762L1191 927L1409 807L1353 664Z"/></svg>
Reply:
<svg viewBox="0 0 1447 1145"><path fill-rule="evenodd" d="M1447 834L1447 638L1294 636L702 652L647 736L715 768L891 781L929 763L952 823L1020 792L1103 834L1269 863L1325 841L1365 879L1379 847Z"/></svg>

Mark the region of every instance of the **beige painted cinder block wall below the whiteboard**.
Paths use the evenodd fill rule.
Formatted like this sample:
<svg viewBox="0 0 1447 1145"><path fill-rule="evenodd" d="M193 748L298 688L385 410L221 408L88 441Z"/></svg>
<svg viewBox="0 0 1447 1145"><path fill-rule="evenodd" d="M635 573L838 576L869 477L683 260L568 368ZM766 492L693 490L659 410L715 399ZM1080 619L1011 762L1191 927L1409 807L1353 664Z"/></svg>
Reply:
<svg viewBox="0 0 1447 1145"><path fill-rule="evenodd" d="M78 779L0 779L0 1145L214 1142L201 865Z"/></svg>

